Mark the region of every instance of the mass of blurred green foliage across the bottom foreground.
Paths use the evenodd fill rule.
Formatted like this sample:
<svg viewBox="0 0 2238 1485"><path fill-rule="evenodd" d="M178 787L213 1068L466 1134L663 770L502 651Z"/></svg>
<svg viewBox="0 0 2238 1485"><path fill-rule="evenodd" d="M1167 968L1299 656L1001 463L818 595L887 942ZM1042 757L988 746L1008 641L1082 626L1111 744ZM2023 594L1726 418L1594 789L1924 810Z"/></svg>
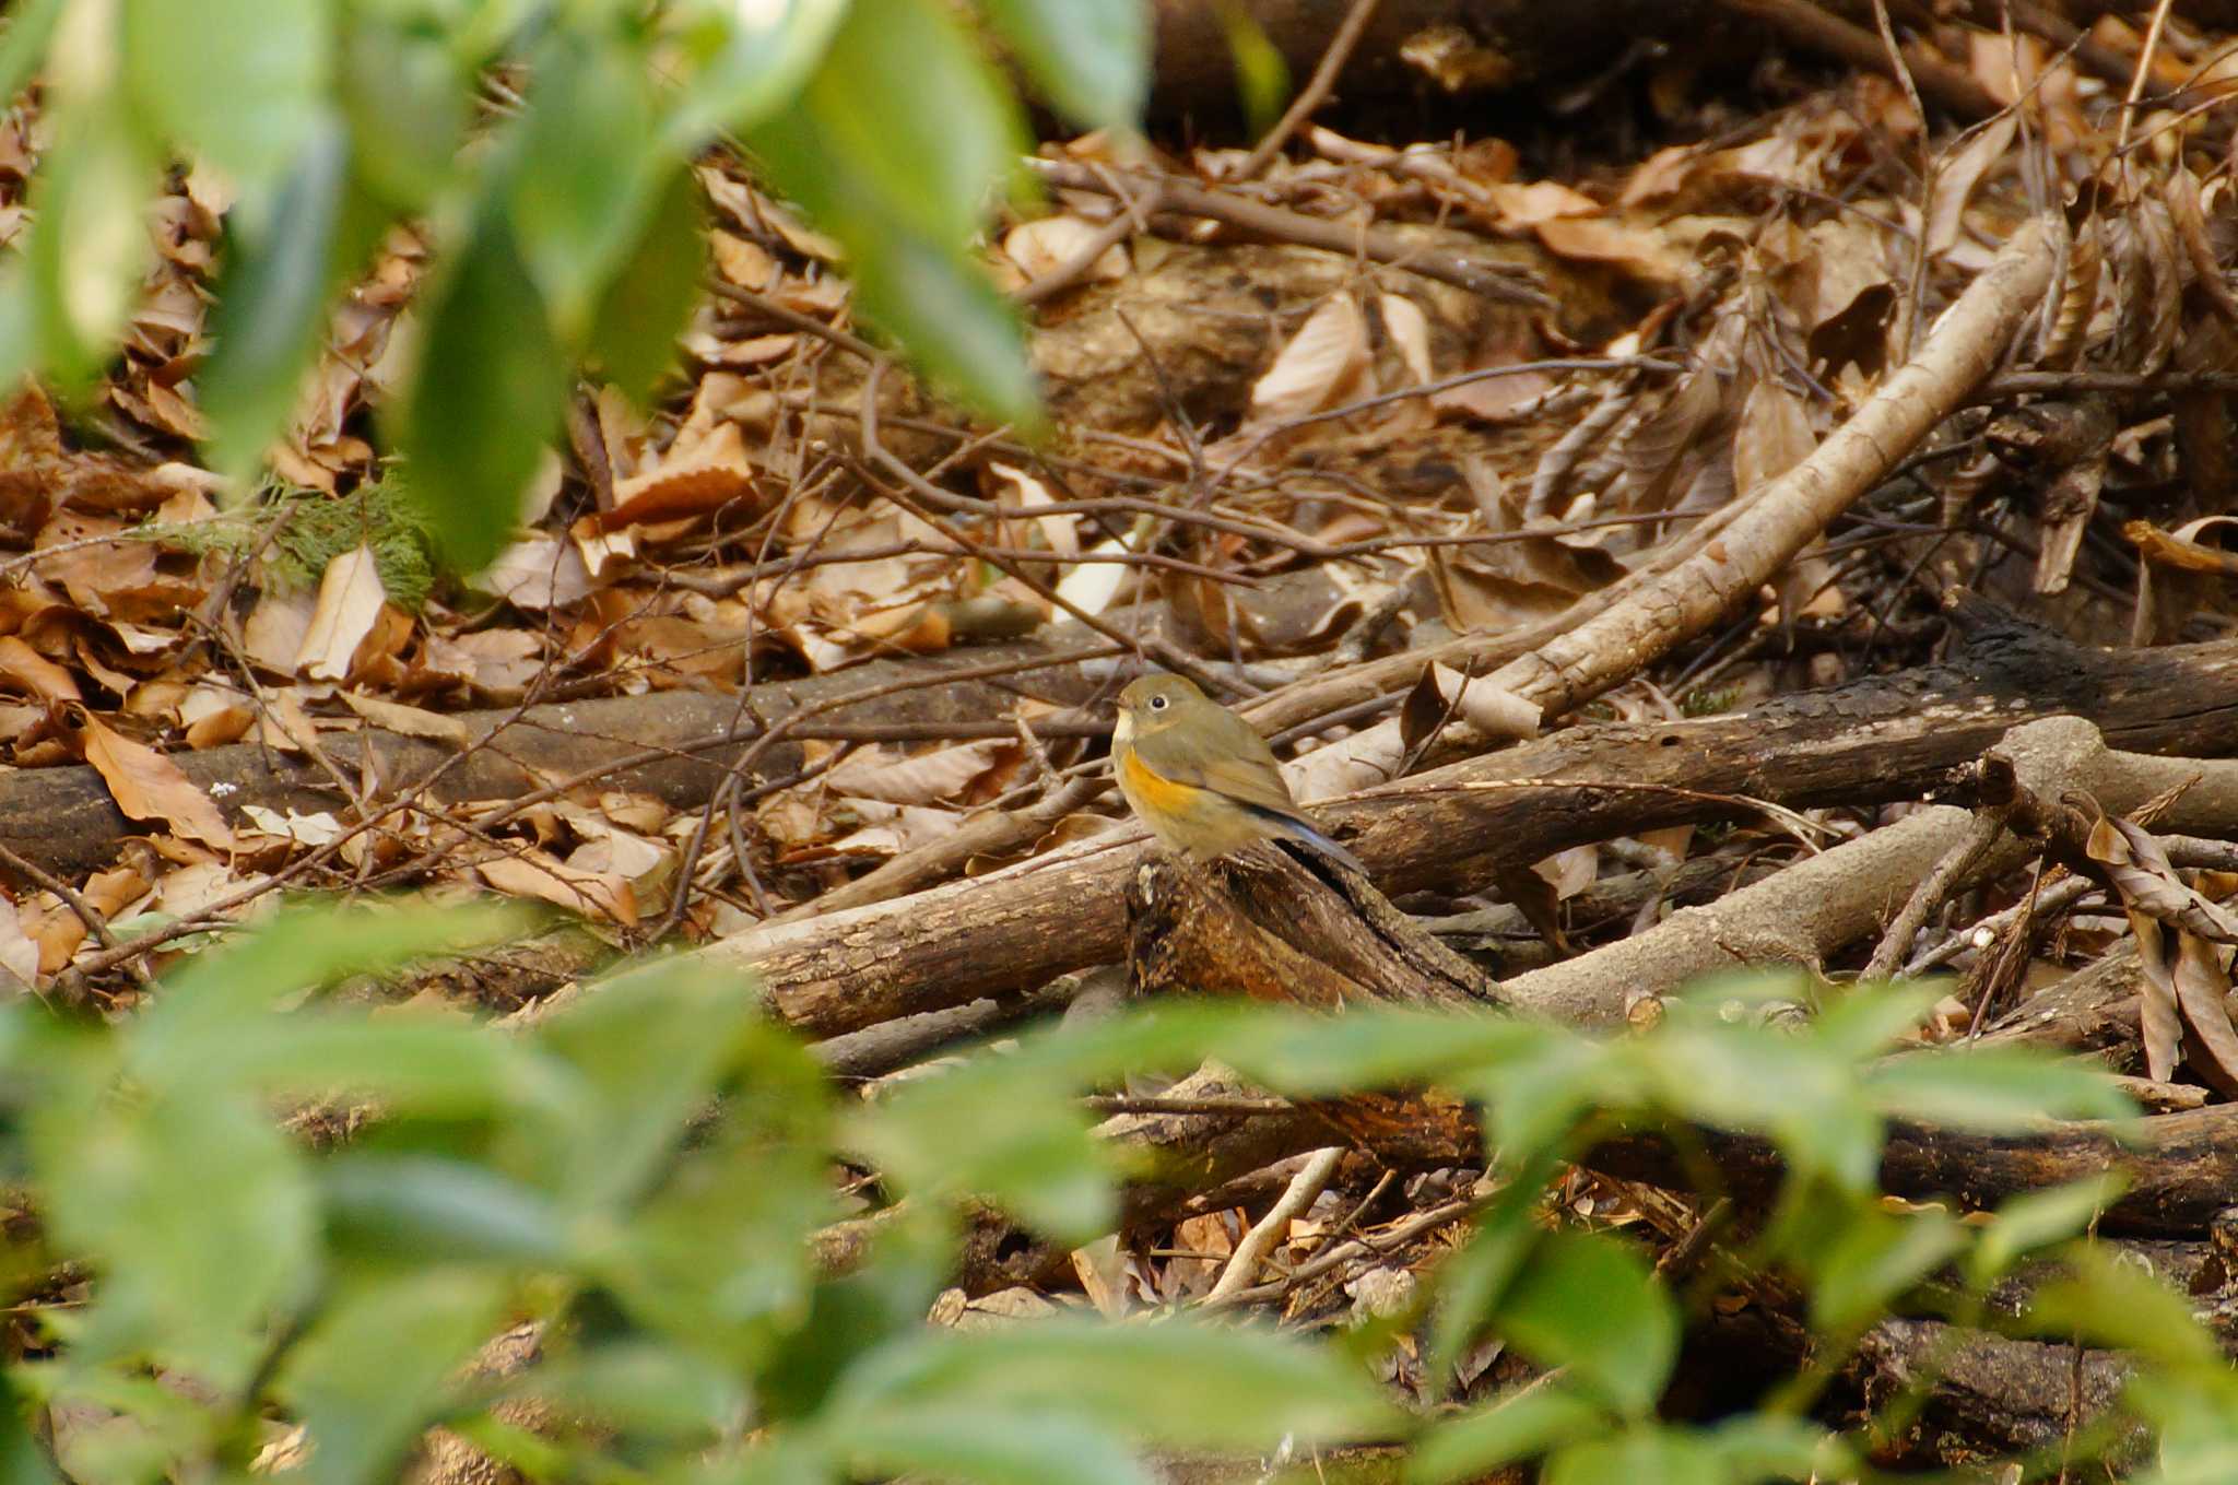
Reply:
<svg viewBox="0 0 2238 1485"><path fill-rule="evenodd" d="M1873 1174L1896 1114L2007 1132L2131 1114L2104 1078L2043 1058L1887 1060L1925 1009L1911 991L1855 991L1793 1029L1757 1009L1795 986L1710 986L1614 1042L1491 1018L1175 1006L1034 1033L850 1109L752 984L692 962L629 968L515 1035L333 993L517 928L298 908L192 957L123 1024L31 1000L0 1011L0 1163L40 1217L7 1250L34 1342L0 1373L9 1478L54 1478L31 1404L74 1420L54 1443L85 1485L239 1478L293 1422L304 1478L336 1483L394 1478L432 1425L533 1478L1146 1485L1148 1447L1282 1438L1403 1440L1423 1485L1526 1460L1569 1485L1853 1478L1860 1440L1813 1422L1811 1402L1864 1326L1922 1295L1990 1324L1987 1286L2043 1255L2066 1277L2019 1328L2142 1358L2128 1407L2164 1438L2155 1478L2227 1478L2238 1449L2238 1382L2184 1299L2075 1241L2110 1183L2028 1194L1987 1223L1884 1210ZM1491 1407L1403 1411L1358 1355L1388 1328L924 1324L960 1196L1097 1235L1123 1172L1079 1094L1204 1056L1294 1096L1435 1080L1479 1100L1504 1185L1392 1324L1428 1340L1432 1387L1486 1337L1551 1375ZM316 1152L282 1132L304 1100L372 1118ZM1734 1241L1811 1295L1817 1353L1719 1425L1658 1418L1705 1295L1544 1203L1582 1143L1663 1120L1766 1134L1793 1172ZM812 1239L841 1217L839 1163L862 1158L902 1201L862 1261L830 1273ZM72 1275L92 1281L65 1299ZM544 1326L542 1360L477 1371L521 1320ZM508 1422L521 1398L551 1422Z"/></svg>

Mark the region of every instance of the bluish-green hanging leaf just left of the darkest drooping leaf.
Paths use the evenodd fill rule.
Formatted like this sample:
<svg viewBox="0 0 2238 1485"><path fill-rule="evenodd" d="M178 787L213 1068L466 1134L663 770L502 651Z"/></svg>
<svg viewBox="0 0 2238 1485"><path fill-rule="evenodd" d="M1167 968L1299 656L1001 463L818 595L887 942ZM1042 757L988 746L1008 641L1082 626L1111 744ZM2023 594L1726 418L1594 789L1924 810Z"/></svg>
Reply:
<svg viewBox="0 0 2238 1485"><path fill-rule="evenodd" d="M217 342L195 378L215 436L210 461L246 479L295 407L302 373L327 331L327 302L376 237L369 212L347 212L349 139L316 130L269 210L235 208L237 242L210 315ZM354 230L345 233L345 219ZM347 237L347 242L345 242Z"/></svg>

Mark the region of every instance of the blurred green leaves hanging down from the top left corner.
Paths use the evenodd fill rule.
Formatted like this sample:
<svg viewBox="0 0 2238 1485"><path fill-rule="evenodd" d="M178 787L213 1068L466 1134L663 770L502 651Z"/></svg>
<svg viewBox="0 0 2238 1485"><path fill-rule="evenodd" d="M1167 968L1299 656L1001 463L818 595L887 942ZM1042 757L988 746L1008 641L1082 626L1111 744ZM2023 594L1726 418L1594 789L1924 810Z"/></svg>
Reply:
<svg viewBox="0 0 2238 1485"><path fill-rule="evenodd" d="M208 456L246 476L327 306L398 221L436 262L389 414L445 557L492 557L577 365L647 396L703 273L692 161L743 139L848 253L859 309L938 382L1032 425L1016 318L971 257L1029 143L998 45L1081 125L1128 130L1141 0L31 0L0 92L43 87L36 221L0 268L0 385L110 365L175 161L224 174L197 373ZM515 96L513 85L519 85Z"/></svg>

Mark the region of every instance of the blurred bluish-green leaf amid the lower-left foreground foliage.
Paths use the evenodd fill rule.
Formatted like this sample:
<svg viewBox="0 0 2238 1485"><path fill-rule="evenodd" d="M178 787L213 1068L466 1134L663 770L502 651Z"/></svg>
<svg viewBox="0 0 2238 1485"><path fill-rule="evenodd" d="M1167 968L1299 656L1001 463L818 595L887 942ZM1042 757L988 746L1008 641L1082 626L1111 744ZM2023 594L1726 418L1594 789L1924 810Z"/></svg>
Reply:
<svg viewBox="0 0 2238 1485"><path fill-rule="evenodd" d="M481 1165L351 1154L320 1170L338 1246L410 1264L562 1266L573 1252L551 1199Z"/></svg>

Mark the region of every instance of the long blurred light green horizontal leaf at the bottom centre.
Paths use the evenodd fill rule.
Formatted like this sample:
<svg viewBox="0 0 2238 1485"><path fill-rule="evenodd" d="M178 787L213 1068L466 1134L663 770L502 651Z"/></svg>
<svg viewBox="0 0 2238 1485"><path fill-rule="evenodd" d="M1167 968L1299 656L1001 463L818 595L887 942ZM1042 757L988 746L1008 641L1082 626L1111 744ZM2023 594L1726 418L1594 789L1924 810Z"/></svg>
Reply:
<svg viewBox="0 0 2238 1485"><path fill-rule="evenodd" d="M1173 1447L1256 1449L1285 1434L1336 1438L1394 1425L1367 1375L1258 1331L1052 1320L1007 1331L920 1331L866 1355L826 1418L947 1404L1047 1409Z"/></svg>

